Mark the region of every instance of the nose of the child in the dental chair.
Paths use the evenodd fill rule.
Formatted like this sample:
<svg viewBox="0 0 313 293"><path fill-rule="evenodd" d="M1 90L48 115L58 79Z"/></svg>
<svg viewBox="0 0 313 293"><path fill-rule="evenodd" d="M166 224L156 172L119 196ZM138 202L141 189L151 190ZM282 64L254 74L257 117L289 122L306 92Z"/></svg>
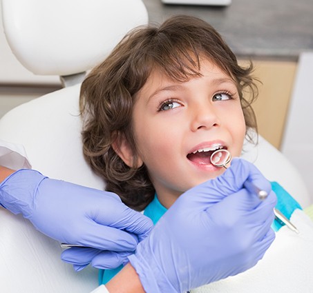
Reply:
<svg viewBox="0 0 313 293"><path fill-rule="evenodd" d="M214 105L209 103L194 105L191 112L191 130L193 132L200 129L209 130L220 125L218 112L214 109Z"/></svg>

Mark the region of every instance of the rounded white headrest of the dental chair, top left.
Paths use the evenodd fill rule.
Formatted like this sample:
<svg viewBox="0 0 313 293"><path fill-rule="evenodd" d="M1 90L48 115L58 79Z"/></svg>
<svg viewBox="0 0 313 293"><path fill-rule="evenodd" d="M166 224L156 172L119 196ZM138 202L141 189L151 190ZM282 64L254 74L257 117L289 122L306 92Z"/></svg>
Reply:
<svg viewBox="0 0 313 293"><path fill-rule="evenodd" d="M148 22L142 0L2 0L2 13L12 52L41 75L91 69L126 32Z"/></svg>

